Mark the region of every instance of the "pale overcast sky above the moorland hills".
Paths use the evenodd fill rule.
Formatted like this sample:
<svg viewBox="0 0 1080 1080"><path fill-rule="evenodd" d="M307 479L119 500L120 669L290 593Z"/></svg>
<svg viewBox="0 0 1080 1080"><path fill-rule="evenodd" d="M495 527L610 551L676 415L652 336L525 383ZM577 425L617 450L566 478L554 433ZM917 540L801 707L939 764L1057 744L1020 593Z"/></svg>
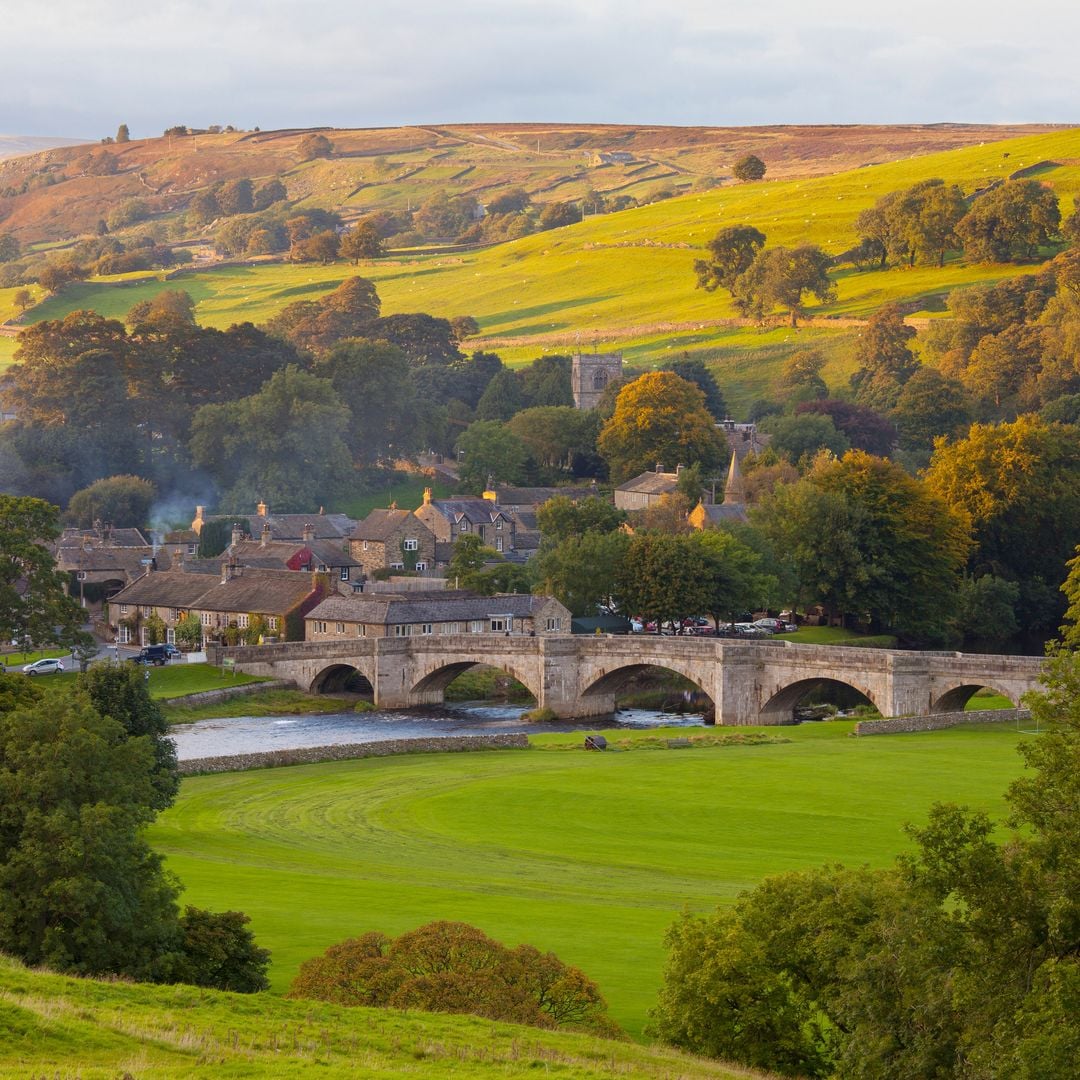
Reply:
<svg viewBox="0 0 1080 1080"><path fill-rule="evenodd" d="M1069 0L0 0L0 133L1071 123L1078 31Z"/></svg>

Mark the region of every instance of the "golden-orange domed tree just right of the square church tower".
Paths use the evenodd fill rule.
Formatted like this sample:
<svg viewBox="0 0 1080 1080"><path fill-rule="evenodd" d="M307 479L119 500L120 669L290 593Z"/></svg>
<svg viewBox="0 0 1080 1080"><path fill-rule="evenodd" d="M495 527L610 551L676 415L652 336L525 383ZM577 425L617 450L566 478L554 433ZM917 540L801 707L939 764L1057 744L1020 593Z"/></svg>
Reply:
<svg viewBox="0 0 1080 1080"><path fill-rule="evenodd" d="M624 387L596 445L616 483L654 469L657 462L715 470L727 450L705 395L670 372L643 375Z"/></svg>

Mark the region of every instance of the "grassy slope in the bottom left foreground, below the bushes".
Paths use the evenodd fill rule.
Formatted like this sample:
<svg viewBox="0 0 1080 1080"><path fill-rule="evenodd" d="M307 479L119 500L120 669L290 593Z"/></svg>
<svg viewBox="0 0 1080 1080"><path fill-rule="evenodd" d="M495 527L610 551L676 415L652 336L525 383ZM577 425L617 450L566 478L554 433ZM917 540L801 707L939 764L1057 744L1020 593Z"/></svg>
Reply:
<svg viewBox="0 0 1080 1080"><path fill-rule="evenodd" d="M64 978L0 957L0 1076L80 1080L612 1074L751 1077L671 1051L469 1016Z"/></svg>

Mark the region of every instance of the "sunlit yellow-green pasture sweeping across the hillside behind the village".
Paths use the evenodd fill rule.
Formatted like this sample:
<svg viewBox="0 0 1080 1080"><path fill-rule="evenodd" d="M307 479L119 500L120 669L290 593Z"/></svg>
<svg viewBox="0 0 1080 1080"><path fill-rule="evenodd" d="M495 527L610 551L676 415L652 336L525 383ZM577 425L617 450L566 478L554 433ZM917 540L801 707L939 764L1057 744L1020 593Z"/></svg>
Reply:
<svg viewBox="0 0 1080 1080"><path fill-rule="evenodd" d="M1058 162L1048 166L1040 179L1054 185L1067 211L1072 195L1080 192L1080 165L1071 163L1077 160L1080 131L1034 135L814 179L718 188L590 217L483 251L394 257L363 265L359 272L377 283L387 313L474 315L482 333L470 347L492 348L509 363L525 363L544 351L595 346L622 348L640 365L689 350L707 360L721 384L732 387L737 404L744 405L752 393L761 392L775 365L794 348L829 338L846 343L851 334L842 325L818 328L816 338L808 328L762 335L752 327L710 325L735 314L725 295L693 287L693 260L719 228L751 224L768 234L770 244L812 242L838 254L855 242L858 213L888 191L934 176L973 191L1039 161ZM865 318L885 302L902 300L913 301L916 314L934 318L943 312L951 288L1030 269L954 260L942 269L843 270L837 275L837 301L809 313ZM319 296L354 272L343 264L275 264L202 271L123 288L86 282L39 305L28 319L56 319L80 307L121 315L162 288L180 287L198 302L203 323L260 323L284 305ZM850 368L850 357L842 355L850 351L845 343L829 347L825 375L834 381ZM10 347L0 343L0 361L4 348Z"/></svg>

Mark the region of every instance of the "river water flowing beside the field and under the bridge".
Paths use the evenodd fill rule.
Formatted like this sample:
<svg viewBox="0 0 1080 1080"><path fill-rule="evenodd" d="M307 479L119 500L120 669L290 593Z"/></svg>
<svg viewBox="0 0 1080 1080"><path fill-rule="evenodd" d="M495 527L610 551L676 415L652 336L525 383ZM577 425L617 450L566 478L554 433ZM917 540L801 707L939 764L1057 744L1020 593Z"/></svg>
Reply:
<svg viewBox="0 0 1080 1080"><path fill-rule="evenodd" d="M391 739L433 739L440 735L494 735L544 731L597 731L609 728L694 727L703 723L692 713L661 713L625 708L615 717L529 724L521 719L522 705L465 702L430 708L373 713L323 713L315 716L230 716L198 720L170 732L181 760L228 757L305 746L384 742Z"/></svg>

